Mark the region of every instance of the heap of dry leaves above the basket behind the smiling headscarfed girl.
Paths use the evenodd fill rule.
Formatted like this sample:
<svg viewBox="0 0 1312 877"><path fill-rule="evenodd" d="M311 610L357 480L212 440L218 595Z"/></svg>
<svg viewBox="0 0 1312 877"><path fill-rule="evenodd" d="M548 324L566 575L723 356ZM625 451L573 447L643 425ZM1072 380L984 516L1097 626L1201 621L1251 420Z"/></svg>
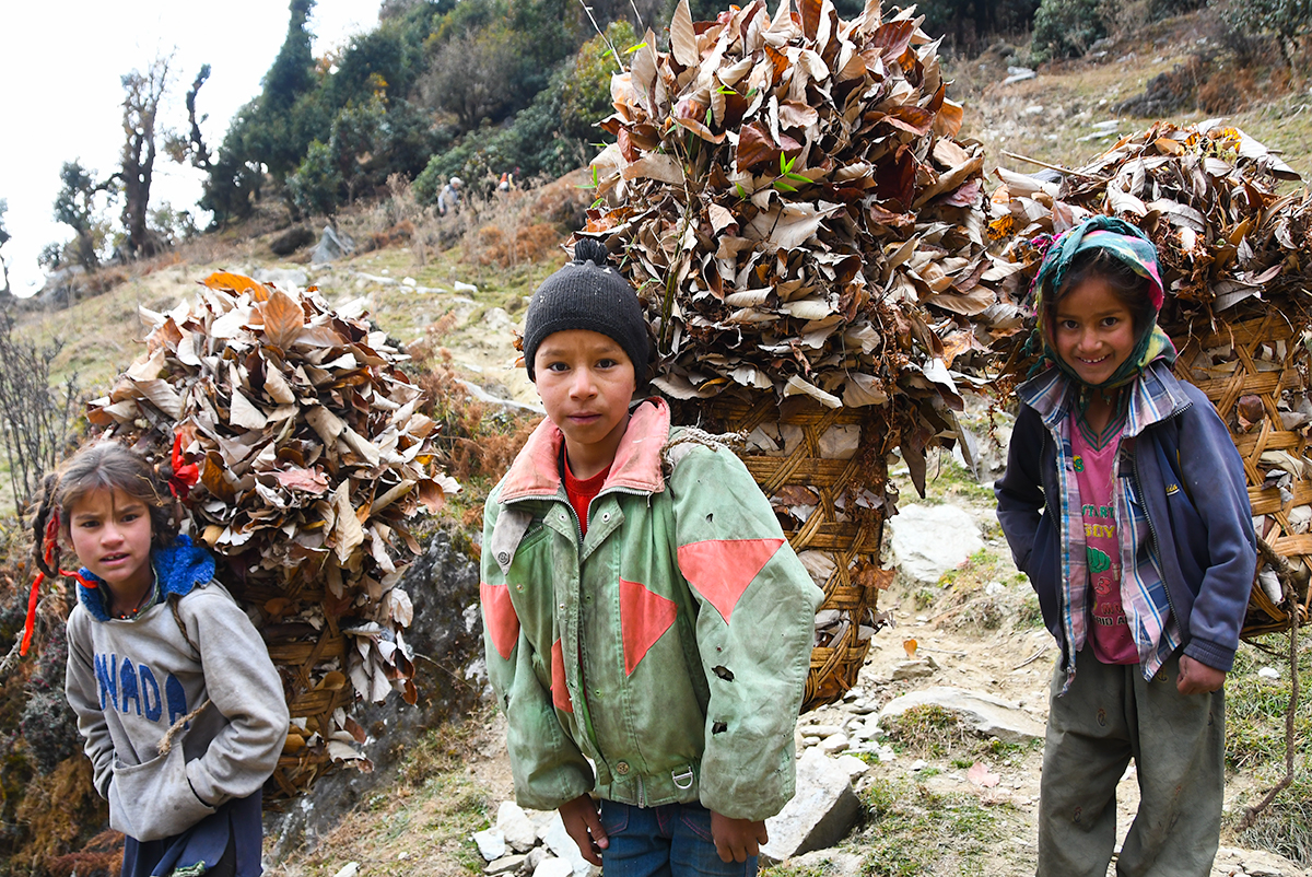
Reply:
<svg viewBox="0 0 1312 877"><path fill-rule="evenodd" d="M988 307L945 333L953 353L985 349L991 358L1013 360L1013 370L1033 365L1029 353L1013 357L1014 341L1033 328L1029 286L1042 252L1031 242L1096 213L1128 219L1157 244L1166 286L1161 323L1172 337L1305 309L1312 264L1300 251L1312 231L1312 198L1282 194L1279 182L1298 173L1239 129L1158 122L1065 171L1060 182L996 173L1002 185L989 202L988 231L1006 252L970 290Z"/></svg>

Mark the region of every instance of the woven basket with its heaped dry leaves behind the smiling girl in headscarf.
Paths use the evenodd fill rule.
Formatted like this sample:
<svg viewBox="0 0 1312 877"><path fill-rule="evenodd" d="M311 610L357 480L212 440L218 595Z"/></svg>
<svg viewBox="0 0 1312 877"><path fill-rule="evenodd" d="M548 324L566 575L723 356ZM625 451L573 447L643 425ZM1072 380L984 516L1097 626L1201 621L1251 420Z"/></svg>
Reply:
<svg viewBox="0 0 1312 877"><path fill-rule="evenodd" d="M945 332L954 369L992 373L1002 394L1038 364L1031 341L1034 274L1042 235L1090 214L1117 215L1157 246L1166 301L1160 323L1179 351L1177 374L1202 389L1229 424L1245 461L1253 512L1282 574L1308 605L1312 557L1312 431L1308 288L1312 196L1282 192L1298 180L1278 155L1216 121L1158 122L1127 137L1060 181L997 169L989 234L1005 253L971 295L989 306ZM1267 554L1249 631L1286 617Z"/></svg>

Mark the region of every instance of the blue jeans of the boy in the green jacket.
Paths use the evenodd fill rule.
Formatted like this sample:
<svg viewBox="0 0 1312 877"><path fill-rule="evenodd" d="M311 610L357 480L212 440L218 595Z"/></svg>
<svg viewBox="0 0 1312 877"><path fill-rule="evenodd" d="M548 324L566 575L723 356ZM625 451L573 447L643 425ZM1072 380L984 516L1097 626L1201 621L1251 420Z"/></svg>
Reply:
<svg viewBox="0 0 1312 877"><path fill-rule="evenodd" d="M610 847L601 853L605 877L756 877L756 856L723 861L711 839L711 811L699 803L635 807L601 802Z"/></svg>

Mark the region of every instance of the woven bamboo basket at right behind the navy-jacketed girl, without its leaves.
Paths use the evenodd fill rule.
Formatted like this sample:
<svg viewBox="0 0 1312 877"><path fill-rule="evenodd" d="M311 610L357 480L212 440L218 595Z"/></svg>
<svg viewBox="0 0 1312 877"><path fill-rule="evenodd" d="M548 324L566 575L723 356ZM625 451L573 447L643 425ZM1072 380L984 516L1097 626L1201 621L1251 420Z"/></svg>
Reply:
<svg viewBox="0 0 1312 877"><path fill-rule="evenodd" d="M1215 332L1177 335L1174 341L1179 351L1177 377L1207 395L1244 458L1258 536L1295 572L1305 572L1312 568L1312 461L1304 456L1307 437L1286 428L1282 417L1294 414L1291 402L1308 389L1307 349L1299 335L1298 327L1271 309ZM1294 607L1299 625L1307 622L1312 597L1307 575L1300 576L1303 584L1292 599L1281 595L1274 574L1263 575L1267 586L1254 583L1249 597L1245 638L1288 630Z"/></svg>

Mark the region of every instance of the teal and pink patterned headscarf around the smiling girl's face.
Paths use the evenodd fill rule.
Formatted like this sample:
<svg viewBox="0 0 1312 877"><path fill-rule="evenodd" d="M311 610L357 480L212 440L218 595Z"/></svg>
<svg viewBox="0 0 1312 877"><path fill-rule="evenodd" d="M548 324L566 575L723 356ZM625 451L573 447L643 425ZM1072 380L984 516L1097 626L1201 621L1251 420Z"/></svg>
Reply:
<svg viewBox="0 0 1312 877"><path fill-rule="evenodd" d="M1031 286L1035 291L1034 307L1038 314L1035 332L1043 341L1044 361L1051 361L1080 386L1084 386L1075 369L1063 361L1052 347L1050 327L1044 326L1043 306L1048 297L1055 295L1056 290L1061 289L1067 272L1075 264L1076 257L1092 249L1107 251L1148 281L1145 289L1152 303L1153 319L1143 328L1134 351L1120 364L1115 374L1090 389L1114 390L1134 381L1151 362L1166 360L1168 364L1172 364L1176 361L1176 347L1157 326L1157 314L1165 301L1165 291L1157 265L1157 248L1148 239L1148 235L1124 219L1098 215L1085 219L1056 238L1043 235L1031 243L1040 248L1046 247L1043 263L1039 265L1039 273L1034 277Z"/></svg>

